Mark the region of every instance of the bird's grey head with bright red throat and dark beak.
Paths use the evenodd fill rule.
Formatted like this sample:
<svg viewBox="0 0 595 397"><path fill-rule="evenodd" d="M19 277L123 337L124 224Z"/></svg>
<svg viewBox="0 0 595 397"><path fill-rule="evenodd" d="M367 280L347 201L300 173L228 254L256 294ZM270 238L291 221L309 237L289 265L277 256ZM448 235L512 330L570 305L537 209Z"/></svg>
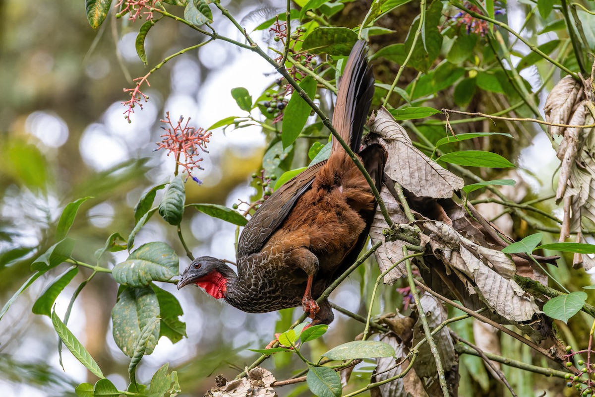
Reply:
<svg viewBox="0 0 595 397"><path fill-rule="evenodd" d="M189 284L203 287L209 295L216 299L223 298L227 292L227 280L235 277L235 273L223 261L213 257L200 257L181 274L178 289Z"/></svg>

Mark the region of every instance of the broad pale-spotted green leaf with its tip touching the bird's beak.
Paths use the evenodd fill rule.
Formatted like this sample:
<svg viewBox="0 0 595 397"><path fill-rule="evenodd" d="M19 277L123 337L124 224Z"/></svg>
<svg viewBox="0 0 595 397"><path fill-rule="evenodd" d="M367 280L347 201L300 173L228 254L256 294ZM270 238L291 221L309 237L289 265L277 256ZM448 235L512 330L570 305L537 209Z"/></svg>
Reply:
<svg viewBox="0 0 595 397"><path fill-rule="evenodd" d="M152 281L168 281L179 273L176 252L162 242L141 245L128 259L112 269L112 277L129 287L148 286Z"/></svg>

